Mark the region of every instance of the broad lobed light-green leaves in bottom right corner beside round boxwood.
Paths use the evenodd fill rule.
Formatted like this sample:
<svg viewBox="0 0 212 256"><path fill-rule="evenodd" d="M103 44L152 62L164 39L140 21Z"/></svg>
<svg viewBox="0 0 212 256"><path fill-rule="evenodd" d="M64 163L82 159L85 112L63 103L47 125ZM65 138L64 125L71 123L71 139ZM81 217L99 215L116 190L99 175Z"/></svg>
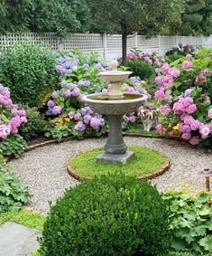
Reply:
<svg viewBox="0 0 212 256"><path fill-rule="evenodd" d="M176 251L212 252L212 195L172 191L164 194L163 199L170 204L172 247Z"/></svg>

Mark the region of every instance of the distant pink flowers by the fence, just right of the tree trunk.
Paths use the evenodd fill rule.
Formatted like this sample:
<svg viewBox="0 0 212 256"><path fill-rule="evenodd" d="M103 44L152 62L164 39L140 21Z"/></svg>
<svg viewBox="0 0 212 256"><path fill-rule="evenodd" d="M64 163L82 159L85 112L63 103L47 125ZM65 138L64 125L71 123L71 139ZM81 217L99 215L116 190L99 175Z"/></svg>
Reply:
<svg viewBox="0 0 212 256"><path fill-rule="evenodd" d="M165 62L164 59L159 60L157 57L156 53L150 53L150 52L141 52L138 49L132 49L128 54L127 54L127 59L129 60L141 60L144 62L147 62L150 65L154 66L161 66L161 62Z"/></svg>

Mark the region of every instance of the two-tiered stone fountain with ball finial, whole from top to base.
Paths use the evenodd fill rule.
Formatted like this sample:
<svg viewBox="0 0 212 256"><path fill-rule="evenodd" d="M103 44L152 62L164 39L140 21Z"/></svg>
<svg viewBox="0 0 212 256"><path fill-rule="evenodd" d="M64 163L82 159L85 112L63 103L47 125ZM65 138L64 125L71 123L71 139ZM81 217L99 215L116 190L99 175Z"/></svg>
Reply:
<svg viewBox="0 0 212 256"><path fill-rule="evenodd" d="M97 161L125 164L134 156L134 152L127 151L122 133L122 119L124 115L132 113L143 105L147 96L142 94L123 93L121 85L131 71L117 71L118 62L112 61L110 71L99 73L104 81L108 81L111 88L108 93L94 93L84 97L84 101L95 112L106 115L109 122L108 138L105 152L97 156Z"/></svg>

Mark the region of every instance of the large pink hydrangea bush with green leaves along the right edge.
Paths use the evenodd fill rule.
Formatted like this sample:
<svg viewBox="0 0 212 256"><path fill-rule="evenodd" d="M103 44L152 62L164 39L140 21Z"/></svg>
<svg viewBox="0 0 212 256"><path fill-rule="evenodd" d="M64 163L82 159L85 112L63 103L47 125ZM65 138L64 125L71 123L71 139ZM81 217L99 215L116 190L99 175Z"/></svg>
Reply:
<svg viewBox="0 0 212 256"><path fill-rule="evenodd" d="M161 113L157 129L172 135L177 127L177 134L192 145L212 147L212 63L197 55L173 64L163 63L156 70L159 89L154 97Z"/></svg>

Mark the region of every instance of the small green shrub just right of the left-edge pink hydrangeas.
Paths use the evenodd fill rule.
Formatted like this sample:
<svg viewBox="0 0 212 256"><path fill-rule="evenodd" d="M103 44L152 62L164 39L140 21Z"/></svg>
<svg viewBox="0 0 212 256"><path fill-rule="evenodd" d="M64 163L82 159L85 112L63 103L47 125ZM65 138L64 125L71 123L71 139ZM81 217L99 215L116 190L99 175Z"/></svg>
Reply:
<svg viewBox="0 0 212 256"><path fill-rule="evenodd" d="M23 107L24 108L24 107ZM36 108L24 108L26 109L27 123L22 125L19 129L19 134L24 139L29 140L32 137L38 137L44 133L46 121L43 115Z"/></svg>

